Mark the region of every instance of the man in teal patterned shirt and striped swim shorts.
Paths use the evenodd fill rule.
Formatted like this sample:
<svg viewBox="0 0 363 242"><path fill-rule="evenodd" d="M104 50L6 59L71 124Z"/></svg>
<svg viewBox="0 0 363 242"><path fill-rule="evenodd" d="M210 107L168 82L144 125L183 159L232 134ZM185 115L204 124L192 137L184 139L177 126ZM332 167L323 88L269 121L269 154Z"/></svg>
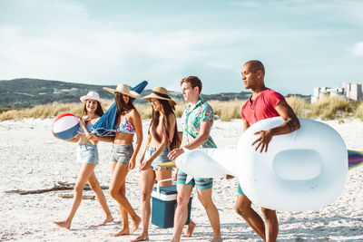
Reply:
<svg viewBox="0 0 363 242"><path fill-rule="evenodd" d="M201 99L201 80L196 76L189 76L182 79L181 86L182 96L189 103L185 106L185 110L182 113L183 147L172 150L169 153L171 160L175 160L180 156L184 152L183 148L193 150L217 147L210 136L213 110L207 102ZM186 179L187 174L179 169L177 178L177 208L175 210L174 230L171 241L180 241L181 239L182 227L185 225L188 217L188 202L194 186L196 186L198 198L211 222L211 228L213 229L213 239L211 241L222 241L220 215L211 200L213 180L194 178L189 183L186 183ZM193 227L189 236L191 236L192 229Z"/></svg>

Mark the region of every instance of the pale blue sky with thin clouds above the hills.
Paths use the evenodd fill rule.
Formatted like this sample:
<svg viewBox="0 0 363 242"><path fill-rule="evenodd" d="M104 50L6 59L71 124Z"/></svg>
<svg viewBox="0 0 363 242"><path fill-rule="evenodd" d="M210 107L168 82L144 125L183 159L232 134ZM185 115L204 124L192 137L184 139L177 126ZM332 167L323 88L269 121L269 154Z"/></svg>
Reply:
<svg viewBox="0 0 363 242"><path fill-rule="evenodd" d="M266 86L312 94L363 82L363 1L0 0L0 80L38 78L180 92L246 91L240 69L265 65Z"/></svg>

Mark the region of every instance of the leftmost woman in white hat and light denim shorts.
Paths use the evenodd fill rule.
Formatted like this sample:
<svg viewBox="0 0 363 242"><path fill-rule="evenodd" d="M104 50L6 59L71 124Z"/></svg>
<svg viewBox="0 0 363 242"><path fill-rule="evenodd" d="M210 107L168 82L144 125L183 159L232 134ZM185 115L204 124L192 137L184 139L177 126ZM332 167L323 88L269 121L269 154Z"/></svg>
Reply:
<svg viewBox="0 0 363 242"><path fill-rule="evenodd" d="M92 131L93 124L103 115L103 108L101 106L102 100L100 99L97 92L88 92L87 95L82 96L80 99L84 103L82 115L80 118L80 126L82 130L80 130L80 132L74 138L66 140L70 142L79 142L76 162L81 166L81 169L78 179L74 185L74 202L72 204L71 211L65 220L54 221L55 225L67 229L71 227L75 212L81 204L83 188L86 182L88 182L91 189L93 189L94 193L96 194L96 198L105 213L105 218L100 226L113 221L113 216L111 215L110 209L107 206L103 190L101 189L100 183L94 174L94 168L97 166L99 161L97 150L98 141L90 140L90 132Z"/></svg>

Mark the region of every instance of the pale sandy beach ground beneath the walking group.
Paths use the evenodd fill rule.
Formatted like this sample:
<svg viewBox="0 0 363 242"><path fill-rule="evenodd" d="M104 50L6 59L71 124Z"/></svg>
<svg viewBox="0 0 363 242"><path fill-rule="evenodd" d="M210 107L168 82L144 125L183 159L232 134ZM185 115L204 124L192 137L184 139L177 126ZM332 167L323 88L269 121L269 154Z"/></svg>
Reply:
<svg viewBox="0 0 363 242"><path fill-rule="evenodd" d="M54 220L66 218L72 199L61 194L72 190L34 195L5 194L13 189L47 189L57 181L73 183L79 166L75 164L76 144L57 140L52 135L53 120L0 122L0 241L129 241L140 235L111 237L121 228L117 203L103 190L115 223L98 227L103 211L94 199L83 200L70 230L55 227ZM144 135L149 120L143 121ZM348 149L363 150L363 122L358 120L326 121L346 141ZM215 121L211 135L219 148L235 148L242 123ZM327 144L329 145L329 144ZM143 145L142 145L143 149ZM100 143L100 164L96 177L101 185L110 182L110 143ZM127 177L127 197L140 215L139 170ZM279 241L363 241L363 167L348 171L346 186L329 206L306 212L280 212ZM260 241L234 211L238 180L215 180L213 199L220 211L223 241ZM195 192L194 192L195 193ZM93 191L84 191L93 195ZM256 208L256 207L255 207ZM260 212L260 208L256 208ZM201 203L194 196L191 217L197 224L191 238L182 241L210 241L211 226ZM150 241L169 241L172 228L151 224Z"/></svg>

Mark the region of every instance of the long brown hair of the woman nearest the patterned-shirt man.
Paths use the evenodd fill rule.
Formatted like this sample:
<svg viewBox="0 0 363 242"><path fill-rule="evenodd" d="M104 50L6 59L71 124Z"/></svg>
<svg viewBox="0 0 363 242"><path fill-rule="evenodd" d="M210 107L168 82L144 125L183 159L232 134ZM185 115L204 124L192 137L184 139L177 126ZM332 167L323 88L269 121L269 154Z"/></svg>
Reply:
<svg viewBox="0 0 363 242"><path fill-rule="evenodd" d="M170 140L170 123L169 123L169 114L174 114L175 107L172 106L167 100L158 99L158 101L162 104L162 112L163 112L163 118L162 118L162 136L165 138L165 140ZM159 125L159 118L160 118L160 111L154 111L152 109L152 121L150 123L149 131L152 130L152 136L155 137L156 140L159 142L162 142L162 139L159 137L159 135L156 133L156 127ZM151 128L151 129L150 129ZM172 142L170 144L171 150L179 148L181 146L181 140L179 139L178 135L178 127L175 122L175 129L174 129L174 135L172 137Z"/></svg>

